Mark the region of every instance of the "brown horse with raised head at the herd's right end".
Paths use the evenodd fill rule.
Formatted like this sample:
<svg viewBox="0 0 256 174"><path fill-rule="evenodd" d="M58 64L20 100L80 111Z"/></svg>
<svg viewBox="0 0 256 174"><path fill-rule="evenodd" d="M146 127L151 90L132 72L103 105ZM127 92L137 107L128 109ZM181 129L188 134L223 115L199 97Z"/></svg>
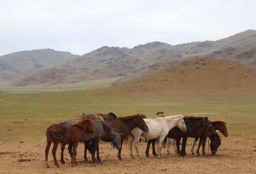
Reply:
<svg viewBox="0 0 256 174"><path fill-rule="evenodd" d="M223 121L211 121L211 124L213 125L215 130L219 130L225 137L228 136L226 122L223 122ZM196 152L197 152L198 155L200 155L199 150L200 150L201 144L203 143L202 153L203 153L203 155L206 155L205 154L205 143L206 143L206 138L208 137L207 132L205 132L205 130L203 130L203 129L197 129L195 132L193 132L193 135L194 136L192 136L192 137L194 137L195 140L194 140L192 148L191 148L191 153L194 154L195 144L196 144L198 138L200 138L199 144L198 144L198 148L197 148ZM216 154L216 152L217 152L217 150L216 151L212 151L212 154Z"/></svg>

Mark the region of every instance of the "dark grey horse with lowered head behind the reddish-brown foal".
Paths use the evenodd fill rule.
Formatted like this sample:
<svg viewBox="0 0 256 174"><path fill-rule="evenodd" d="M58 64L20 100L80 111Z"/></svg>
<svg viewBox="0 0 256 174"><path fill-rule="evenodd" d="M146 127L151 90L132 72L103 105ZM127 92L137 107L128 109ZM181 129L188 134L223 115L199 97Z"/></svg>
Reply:
<svg viewBox="0 0 256 174"><path fill-rule="evenodd" d="M118 130L113 129L111 126L109 126L109 124L106 121L102 121L96 117L94 117L93 114L87 114L84 115L83 119L87 119L87 118L92 119L91 122L93 124L93 126L95 127L95 132L85 132L80 141L84 141L84 159L87 160L87 156L86 156L86 151L87 148L90 150L91 155L92 155L92 161L96 162L96 158L95 158L95 151L97 150L97 160L100 161L100 156L99 156L99 139L102 138L109 138L111 139L111 144L113 147L116 147L116 149L119 149L121 147L121 139L123 138L124 134L120 133ZM70 123L72 121L67 120L64 121L67 123ZM62 122L62 124L64 123ZM63 158L63 152L65 149L65 145L62 145L61 148L61 162L65 163L64 158ZM68 146L68 150L69 153L72 153L72 144L69 144Z"/></svg>

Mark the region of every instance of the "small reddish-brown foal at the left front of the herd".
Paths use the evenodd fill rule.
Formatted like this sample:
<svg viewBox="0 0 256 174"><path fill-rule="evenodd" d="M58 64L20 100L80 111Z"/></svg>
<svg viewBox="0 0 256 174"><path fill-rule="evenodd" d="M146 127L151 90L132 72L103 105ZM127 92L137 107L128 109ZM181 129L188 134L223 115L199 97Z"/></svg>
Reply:
<svg viewBox="0 0 256 174"><path fill-rule="evenodd" d="M47 145L45 148L46 166L50 167L50 165L48 164L48 153L49 153L49 148L52 142L53 142L52 154L53 154L54 164L57 165L58 168L60 167L60 165L56 160L56 150L58 148L59 143L73 145L73 152L71 155L71 166L74 167L75 165L77 165L76 148L83 133L86 131L89 131L89 132L95 131L95 127L92 125L90 118L83 119L70 126L52 124L49 127L47 127L47 130L46 130Z"/></svg>

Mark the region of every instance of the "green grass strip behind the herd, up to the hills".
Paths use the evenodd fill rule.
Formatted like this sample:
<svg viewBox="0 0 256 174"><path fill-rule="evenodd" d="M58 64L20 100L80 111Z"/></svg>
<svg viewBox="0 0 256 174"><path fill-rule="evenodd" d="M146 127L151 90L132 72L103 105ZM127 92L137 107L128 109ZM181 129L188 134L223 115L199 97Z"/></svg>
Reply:
<svg viewBox="0 0 256 174"><path fill-rule="evenodd" d="M0 140L20 141L44 137L47 126L84 113L114 112L118 116L144 113L154 117L166 115L208 115L210 120L228 122L230 137L247 137L255 141L255 97L130 97L104 93L98 89L0 93ZM27 120L25 120L27 119ZM13 123L13 122L23 123ZM12 129L8 131L8 129ZM3 131L4 130L4 131Z"/></svg>

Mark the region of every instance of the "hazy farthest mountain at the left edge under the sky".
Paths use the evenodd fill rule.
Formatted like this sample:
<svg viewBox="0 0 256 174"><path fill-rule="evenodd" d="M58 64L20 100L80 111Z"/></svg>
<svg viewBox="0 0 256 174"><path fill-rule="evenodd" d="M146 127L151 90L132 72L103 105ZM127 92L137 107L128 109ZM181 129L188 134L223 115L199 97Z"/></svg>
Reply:
<svg viewBox="0 0 256 174"><path fill-rule="evenodd" d="M54 49L35 49L0 56L0 79L17 78L21 73L71 60L78 55Z"/></svg>

